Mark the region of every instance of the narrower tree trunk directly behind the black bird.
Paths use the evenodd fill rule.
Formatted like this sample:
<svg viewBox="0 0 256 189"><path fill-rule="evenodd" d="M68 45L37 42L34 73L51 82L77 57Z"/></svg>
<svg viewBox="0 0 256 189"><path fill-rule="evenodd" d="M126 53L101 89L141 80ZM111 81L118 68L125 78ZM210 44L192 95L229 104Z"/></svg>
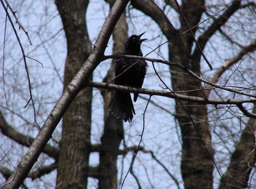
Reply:
<svg viewBox="0 0 256 189"><path fill-rule="evenodd" d="M112 7L115 1L110 2ZM113 54L119 53L124 50L125 43L128 38L128 26L126 23L126 16L123 13L116 24L113 31ZM115 66L115 59L107 72L103 82L108 82L115 77L113 68ZM112 82L114 83L114 81ZM101 137L102 150L99 153L99 189L112 189L117 188L117 156L119 154L119 145L124 138L123 122L113 116L108 106L111 102L115 91L101 90L104 99L104 133ZM104 174L102 174L104 173ZM111 182L112 185L111 185Z"/></svg>

